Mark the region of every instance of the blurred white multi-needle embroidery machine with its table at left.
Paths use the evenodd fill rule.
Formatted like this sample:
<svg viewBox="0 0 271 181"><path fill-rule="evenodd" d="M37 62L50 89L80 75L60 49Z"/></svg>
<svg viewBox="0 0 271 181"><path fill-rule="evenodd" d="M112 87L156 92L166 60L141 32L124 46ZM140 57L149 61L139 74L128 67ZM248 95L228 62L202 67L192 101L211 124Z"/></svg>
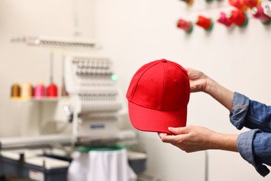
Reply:
<svg viewBox="0 0 271 181"><path fill-rule="evenodd" d="M126 113L113 62L101 56L65 56L63 106L70 134L44 134L0 139L0 176L6 173L33 180L65 180L74 148L133 145L136 133L120 129Z"/></svg>

